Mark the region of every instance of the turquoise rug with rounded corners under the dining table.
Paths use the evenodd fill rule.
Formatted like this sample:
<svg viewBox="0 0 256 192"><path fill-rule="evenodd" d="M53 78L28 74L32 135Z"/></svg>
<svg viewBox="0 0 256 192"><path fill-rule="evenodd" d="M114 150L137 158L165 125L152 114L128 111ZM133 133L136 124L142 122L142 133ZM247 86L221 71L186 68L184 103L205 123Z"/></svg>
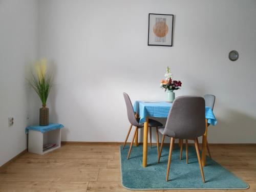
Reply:
<svg viewBox="0 0 256 192"><path fill-rule="evenodd" d="M185 147L183 147L184 149ZM133 147L127 160L129 146L120 146L122 185L127 189L247 189L249 185L230 173L207 156L204 169L205 183L202 182L195 147L189 146L188 164L186 153L180 160L180 148L173 150L169 181L165 181L169 146L164 146L160 163L157 163L156 146L147 150L147 167L142 167L143 146Z"/></svg>

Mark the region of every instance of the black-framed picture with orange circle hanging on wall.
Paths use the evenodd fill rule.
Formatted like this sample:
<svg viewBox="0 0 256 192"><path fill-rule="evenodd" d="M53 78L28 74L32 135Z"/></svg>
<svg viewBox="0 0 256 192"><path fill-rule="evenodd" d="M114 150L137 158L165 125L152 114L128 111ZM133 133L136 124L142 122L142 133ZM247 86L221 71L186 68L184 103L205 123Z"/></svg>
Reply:
<svg viewBox="0 0 256 192"><path fill-rule="evenodd" d="M173 46L174 15L148 14L148 46Z"/></svg>

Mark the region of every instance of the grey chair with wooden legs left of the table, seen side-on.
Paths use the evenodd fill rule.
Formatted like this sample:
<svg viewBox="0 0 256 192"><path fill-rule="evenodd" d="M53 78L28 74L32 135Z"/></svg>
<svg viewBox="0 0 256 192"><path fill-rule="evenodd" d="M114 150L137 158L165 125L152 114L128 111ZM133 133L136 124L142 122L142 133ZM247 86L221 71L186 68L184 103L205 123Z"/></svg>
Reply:
<svg viewBox="0 0 256 192"><path fill-rule="evenodd" d="M124 97L124 100L125 100L125 104L126 104L126 109L127 109L127 116L128 116L128 119L131 123L131 126L130 126L130 129L127 133L127 136L126 136L126 139L124 141L124 144L123 144L123 148L127 142L127 139L130 135L130 132L131 132L131 129L132 129L132 126L135 126L135 132L134 132L134 136L133 136L133 139L132 139L132 142L131 142L131 145L130 145L130 150L129 150L129 153L127 155L127 159L129 159L130 157L130 154L131 154L131 151L132 151L132 146L133 146L133 142L134 142L134 138L136 136L136 132L138 134L138 129L140 129L141 127L144 127L144 124L140 124L139 123L139 118L136 118L135 117L135 114L134 114L134 111L133 111L133 105L132 105L132 102L130 100L130 97L127 93L123 93L123 97ZM151 127L156 127L156 135L157 135L157 154L159 155L159 141L158 141L158 127L159 126L163 126L162 123L156 121L156 120L153 120L153 119L148 119L148 126L151 128Z"/></svg>

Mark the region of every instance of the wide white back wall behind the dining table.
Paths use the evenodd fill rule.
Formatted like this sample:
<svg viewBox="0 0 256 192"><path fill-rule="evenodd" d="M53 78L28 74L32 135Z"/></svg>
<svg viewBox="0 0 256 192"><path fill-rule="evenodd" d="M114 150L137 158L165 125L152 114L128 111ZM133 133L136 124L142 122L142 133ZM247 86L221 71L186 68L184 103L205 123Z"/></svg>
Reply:
<svg viewBox="0 0 256 192"><path fill-rule="evenodd" d="M169 66L183 82L177 96L216 95L210 143L256 143L255 10L254 0L40 1L38 53L54 63L48 104L62 140L123 141L122 92L164 100ZM147 46L148 13L176 15L174 47Z"/></svg>

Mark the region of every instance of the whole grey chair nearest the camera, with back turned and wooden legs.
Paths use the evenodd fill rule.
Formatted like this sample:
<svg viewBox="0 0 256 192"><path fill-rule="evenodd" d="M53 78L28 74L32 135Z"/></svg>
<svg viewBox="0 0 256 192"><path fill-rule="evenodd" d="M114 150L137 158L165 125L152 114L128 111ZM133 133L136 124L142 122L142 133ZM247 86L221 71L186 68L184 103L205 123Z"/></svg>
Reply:
<svg viewBox="0 0 256 192"><path fill-rule="evenodd" d="M170 160L175 139L192 139L195 141L197 158L204 182L204 172L199 153L198 137L205 132L205 101L203 97L180 96L177 97L170 109L165 127L160 127L158 131L163 135L158 163L160 162L164 137L170 137L170 150L167 164L166 181L168 181Z"/></svg>

